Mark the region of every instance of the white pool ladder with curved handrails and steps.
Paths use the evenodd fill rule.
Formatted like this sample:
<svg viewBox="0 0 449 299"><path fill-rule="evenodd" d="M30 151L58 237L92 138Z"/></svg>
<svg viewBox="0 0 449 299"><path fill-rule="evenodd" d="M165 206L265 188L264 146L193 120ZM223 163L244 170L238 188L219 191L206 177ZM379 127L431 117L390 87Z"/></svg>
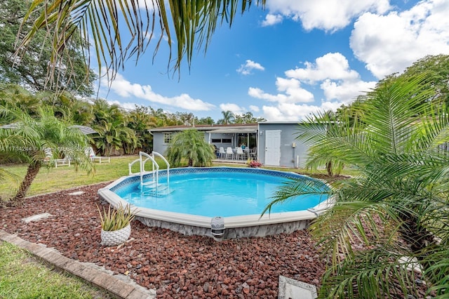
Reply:
<svg viewBox="0 0 449 299"><path fill-rule="evenodd" d="M161 157L161 159L167 165L167 183L161 184L159 183L159 164L157 164L154 156ZM152 161L152 173L153 180L149 180L144 182L143 177L149 171L145 171L145 163L150 160ZM139 152L139 159L136 159L132 163L128 164L129 167L129 175L133 175L133 171L131 170L133 164L139 162L140 164L140 192L145 195L150 195L153 197L162 197L166 194L169 194L170 191L170 164L167 159L163 157L159 152L152 152L152 154L147 154L146 152Z"/></svg>

